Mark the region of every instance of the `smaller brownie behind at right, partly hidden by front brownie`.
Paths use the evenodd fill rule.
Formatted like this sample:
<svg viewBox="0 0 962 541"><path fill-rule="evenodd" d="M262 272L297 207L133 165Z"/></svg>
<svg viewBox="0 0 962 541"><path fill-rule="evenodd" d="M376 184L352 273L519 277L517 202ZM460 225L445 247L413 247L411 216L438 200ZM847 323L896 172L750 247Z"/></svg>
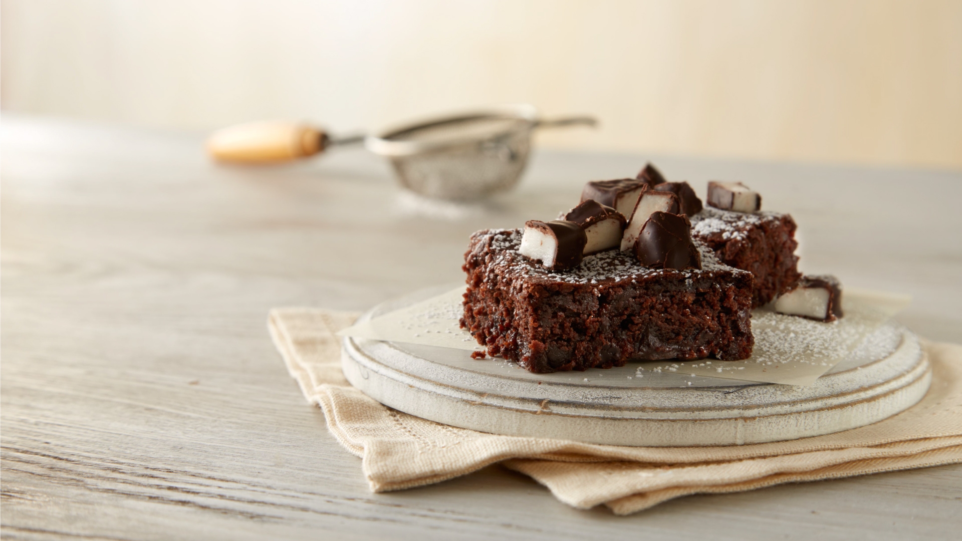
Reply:
<svg viewBox="0 0 962 541"><path fill-rule="evenodd" d="M692 217L692 238L708 245L725 265L755 276L752 307L796 287L801 274L790 215L739 213L705 207Z"/></svg>

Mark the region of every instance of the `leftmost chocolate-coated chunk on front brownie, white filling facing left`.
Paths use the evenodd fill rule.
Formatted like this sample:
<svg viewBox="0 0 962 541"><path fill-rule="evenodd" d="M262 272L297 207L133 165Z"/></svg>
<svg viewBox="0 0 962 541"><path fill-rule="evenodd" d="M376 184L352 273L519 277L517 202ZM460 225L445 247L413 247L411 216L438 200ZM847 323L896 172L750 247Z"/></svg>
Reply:
<svg viewBox="0 0 962 541"><path fill-rule="evenodd" d="M519 253L542 262L550 270L564 270L581 263L588 236L573 221L556 219L524 223Z"/></svg>

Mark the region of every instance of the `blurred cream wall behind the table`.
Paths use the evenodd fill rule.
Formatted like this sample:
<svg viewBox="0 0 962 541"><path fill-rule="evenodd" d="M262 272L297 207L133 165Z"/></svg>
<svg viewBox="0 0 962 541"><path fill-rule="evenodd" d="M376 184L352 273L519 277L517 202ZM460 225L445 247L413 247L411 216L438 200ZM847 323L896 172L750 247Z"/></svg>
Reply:
<svg viewBox="0 0 962 541"><path fill-rule="evenodd" d="M497 102L556 147L962 168L962 1L4 0L6 111L374 130Z"/></svg>

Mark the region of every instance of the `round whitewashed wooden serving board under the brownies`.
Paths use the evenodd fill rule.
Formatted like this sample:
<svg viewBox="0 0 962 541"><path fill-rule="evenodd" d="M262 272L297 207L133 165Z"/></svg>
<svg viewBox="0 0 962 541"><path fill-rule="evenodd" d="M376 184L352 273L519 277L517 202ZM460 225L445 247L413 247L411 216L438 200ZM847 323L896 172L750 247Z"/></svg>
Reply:
<svg viewBox="0 0 962 541"><path fill-rule="evenodd" d="M427 296L379 305L362 321ZM639 363L531 374L501 358L471 359L468 350L351 337L342 353L352 385L423 419L627 446L742 445L838 432L911 407L931 381L918 339L895 322L807 387L670 372L636 377Z"/></svg>

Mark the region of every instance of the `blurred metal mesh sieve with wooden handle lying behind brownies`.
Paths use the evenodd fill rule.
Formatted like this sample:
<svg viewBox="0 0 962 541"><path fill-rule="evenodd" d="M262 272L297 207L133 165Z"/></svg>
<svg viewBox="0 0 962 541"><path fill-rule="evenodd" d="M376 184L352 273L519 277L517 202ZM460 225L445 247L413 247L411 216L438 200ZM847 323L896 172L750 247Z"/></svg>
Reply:
<svg viewBox="0 0 962 541"><path fill-rule="evenodd" d="M224 128L208 140L222 162L266 163L306 158L332 146L365 142L391 160L405 188L441 199L468 200L518 184L535 128L595 125L588 116L543 120L531 105L502 105L388 130L378 136L331 137L289 122L253 122Z"/></svg>

